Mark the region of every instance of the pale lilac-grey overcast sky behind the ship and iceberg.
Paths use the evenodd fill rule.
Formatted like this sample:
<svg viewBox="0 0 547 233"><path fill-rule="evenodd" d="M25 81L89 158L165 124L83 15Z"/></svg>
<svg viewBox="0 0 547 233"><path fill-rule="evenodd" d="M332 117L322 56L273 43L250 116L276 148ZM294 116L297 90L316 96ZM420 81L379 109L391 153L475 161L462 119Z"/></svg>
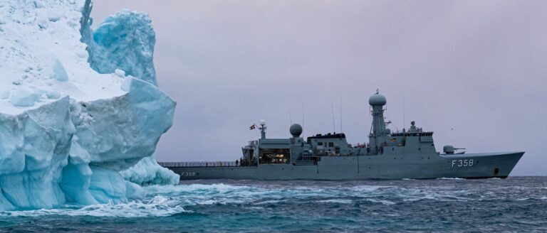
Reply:
<svg viewBox="0 0 547 233"><path fill-rule="evenodd" d="M177 101L158 161L235 161L260 119L363 143L379 89L392 130L405 115L437 151L526 151L511 175L547 175L547 1L95 0L95 26L124 8L152 18Z"/></svg>

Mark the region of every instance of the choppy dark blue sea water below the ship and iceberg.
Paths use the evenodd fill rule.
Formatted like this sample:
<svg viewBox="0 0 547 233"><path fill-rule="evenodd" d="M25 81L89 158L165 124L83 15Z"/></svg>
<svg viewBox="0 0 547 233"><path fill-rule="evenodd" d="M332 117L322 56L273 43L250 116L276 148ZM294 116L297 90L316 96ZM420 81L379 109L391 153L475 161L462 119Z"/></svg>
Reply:
<svg viewBox="0 0 547 233"><path fill-rule="evenodd" d="M198 180L146 200L0 212L3 232L547 232L547 177Z"/></svg>

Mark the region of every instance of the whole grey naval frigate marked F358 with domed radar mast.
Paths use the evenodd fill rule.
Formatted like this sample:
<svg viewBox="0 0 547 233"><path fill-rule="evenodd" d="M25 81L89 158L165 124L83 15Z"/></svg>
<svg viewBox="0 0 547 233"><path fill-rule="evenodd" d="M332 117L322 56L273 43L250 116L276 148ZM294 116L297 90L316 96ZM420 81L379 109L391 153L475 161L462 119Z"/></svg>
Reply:
<svg viewBox="0 0 547 233"><path fill-rule="evenodd" d="M167 162L181 180L359 180L432 178L506 178L524 152L465 153L454 146L437 152L433 132L411 122L409 129L392 132L385 121L386 98L376 92L369 99L373 124L368 143L352 145L345 134L301 137L302 126L291 125L291 138L249 141L243 156L230 162ZM251 126L254 128L254 125Z"/></svg>

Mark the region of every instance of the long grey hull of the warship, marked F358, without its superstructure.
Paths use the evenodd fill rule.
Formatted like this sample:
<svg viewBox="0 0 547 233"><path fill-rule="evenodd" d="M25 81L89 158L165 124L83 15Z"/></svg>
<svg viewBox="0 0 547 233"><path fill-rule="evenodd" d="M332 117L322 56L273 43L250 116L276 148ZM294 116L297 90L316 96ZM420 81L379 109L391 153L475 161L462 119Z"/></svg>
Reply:
<svg viewBox="0 0 547 233"><path fill-rule="evenodd" d="M323 156L316 164L259 164L232 167L167 166L180 180L363 180L506 178L524 152L474 154L382 154Z"/></svg>

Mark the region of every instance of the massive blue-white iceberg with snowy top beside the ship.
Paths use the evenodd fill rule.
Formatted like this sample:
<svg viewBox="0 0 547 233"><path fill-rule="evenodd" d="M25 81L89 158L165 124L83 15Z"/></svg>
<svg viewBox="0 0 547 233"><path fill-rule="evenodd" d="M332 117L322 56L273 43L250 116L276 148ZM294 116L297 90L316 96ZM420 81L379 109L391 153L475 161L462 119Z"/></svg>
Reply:
<svg viewBox="0 0 547 233"><path fill-rule="evenodd" d="M152 156L176 103L157 87L155 33L88 0L0 0L0 210L124 202L178 176Z"/></svg>

